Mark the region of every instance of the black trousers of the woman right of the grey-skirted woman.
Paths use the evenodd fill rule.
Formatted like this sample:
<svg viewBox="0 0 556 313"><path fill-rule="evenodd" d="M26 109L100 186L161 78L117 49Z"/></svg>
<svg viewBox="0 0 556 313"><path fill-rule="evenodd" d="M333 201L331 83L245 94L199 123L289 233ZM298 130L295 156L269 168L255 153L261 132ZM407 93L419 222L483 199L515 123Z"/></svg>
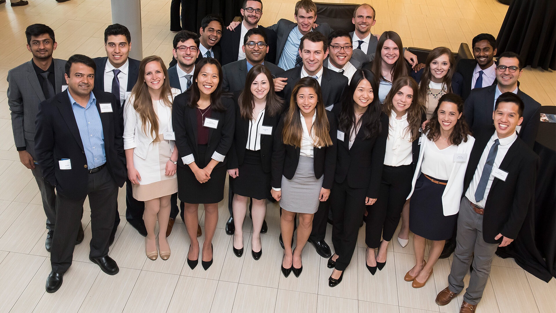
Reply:
<svg viewBox="0 0 556 313"><path fill-rule="evenodd" d="M332 244L338 255L336 270L344 271L351 262L357 245L359 226L365 214L367 188L351 188L347 179L339 184L334 182L330 193L332 206Z"/></svg>

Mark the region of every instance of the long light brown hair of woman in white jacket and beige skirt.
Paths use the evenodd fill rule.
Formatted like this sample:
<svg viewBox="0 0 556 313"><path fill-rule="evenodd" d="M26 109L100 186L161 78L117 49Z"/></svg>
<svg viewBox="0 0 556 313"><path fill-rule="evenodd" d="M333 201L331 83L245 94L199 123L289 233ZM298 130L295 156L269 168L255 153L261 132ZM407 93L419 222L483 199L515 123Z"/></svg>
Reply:
<svg viewBox="0 0 556 313"><path fill-rule="evenodd" d="M141 123L143 124L143 132L151 134L155 137L155 142L158 141L158 116L156 115L155 107L152 104L151 94L148 92L147 83L145 82L145 67L150 62L160 63L160 67L164 74L164 81L160 87L160 99L166 106L172 107L172 101L168 97L172 97L172 90L170 87L170 79L168 79L168 71L164 65L164 61L159 56L148 56L143 58L139 64L139 74L137 76L137 83L131 90L131 95L135 98L133 100L133 109L139 115ZM151 125L151 129L147 130L147 125Z"/></svg>

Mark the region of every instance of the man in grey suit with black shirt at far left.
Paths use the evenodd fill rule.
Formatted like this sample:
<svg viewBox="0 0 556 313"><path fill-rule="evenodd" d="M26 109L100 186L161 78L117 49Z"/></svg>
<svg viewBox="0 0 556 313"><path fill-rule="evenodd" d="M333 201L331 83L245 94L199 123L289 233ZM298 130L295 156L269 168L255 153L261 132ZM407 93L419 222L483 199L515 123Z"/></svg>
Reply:
<svg viewBox="0 0 556 313"><path fill-rule="evenodd" d="M13 140L19 152L19 160L31 169L38 189L41 191L42 205L46 214L45 247L48 252L52 245L54 223L56 222L56 194L54 187L42 178L41 167L35 161L34 135L38 104L61 92L65 85L65 60L52 58L56 50L56 40L52 28L43 24L33 24L25 30L27 50L33 58L8 71L8 105L12 111ZM77 243L83 241L83 228L77 236Z"/></svg>

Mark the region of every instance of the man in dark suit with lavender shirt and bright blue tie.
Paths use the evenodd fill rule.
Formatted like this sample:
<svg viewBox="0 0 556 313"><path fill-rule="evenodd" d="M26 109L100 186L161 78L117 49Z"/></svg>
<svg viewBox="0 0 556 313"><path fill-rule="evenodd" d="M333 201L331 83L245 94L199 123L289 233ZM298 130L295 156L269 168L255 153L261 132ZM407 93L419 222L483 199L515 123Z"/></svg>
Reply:
<svg viewBox="0 0 556 313"><path fill-rule="evenodd" d="M473 38L473 58L458 61L456 72L463 77L461 97L466 100L471 89L488 87L496 84L496 39L488 33L481 33Z"/></svg>

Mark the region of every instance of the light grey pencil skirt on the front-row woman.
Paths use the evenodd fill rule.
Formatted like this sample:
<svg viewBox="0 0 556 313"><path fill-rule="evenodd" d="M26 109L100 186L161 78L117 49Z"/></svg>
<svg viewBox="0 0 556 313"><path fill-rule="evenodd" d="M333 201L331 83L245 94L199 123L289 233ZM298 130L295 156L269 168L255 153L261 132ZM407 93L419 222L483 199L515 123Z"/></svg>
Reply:
<svg viewBox="0 0 556 313"><path fill-rule="evenodd" d="M319 209L319 194L324 175L315 178L313 158L299 156L294 177L282 176L282 198L280 207L289 212L313 214Z"/></svg>

